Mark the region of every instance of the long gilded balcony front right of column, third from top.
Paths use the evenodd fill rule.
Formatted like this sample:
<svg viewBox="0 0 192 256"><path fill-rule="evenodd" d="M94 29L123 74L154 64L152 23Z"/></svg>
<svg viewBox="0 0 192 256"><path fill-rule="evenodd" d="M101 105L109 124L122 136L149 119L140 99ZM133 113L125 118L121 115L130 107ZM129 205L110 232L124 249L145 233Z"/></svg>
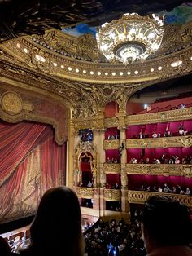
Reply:
<svg viewBox="0 0 192 256"><path fill-rule="evenodd" d="M181 164L126 164L127 174L151 174L192 177L192 165Z"/></svg>

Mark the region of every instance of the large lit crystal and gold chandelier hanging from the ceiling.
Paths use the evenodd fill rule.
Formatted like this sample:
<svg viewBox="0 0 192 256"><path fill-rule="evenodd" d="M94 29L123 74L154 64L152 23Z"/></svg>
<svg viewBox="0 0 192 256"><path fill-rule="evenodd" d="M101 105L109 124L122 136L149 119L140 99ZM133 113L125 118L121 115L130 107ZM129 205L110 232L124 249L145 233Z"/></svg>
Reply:
<svg viewBox="0 0 192 256"><path fill-rule="evenodd" d="M102 25L97 33L98 49L111 63L130 64L159 49L164 36L164 16L137 13L122 15Z"/></svg>

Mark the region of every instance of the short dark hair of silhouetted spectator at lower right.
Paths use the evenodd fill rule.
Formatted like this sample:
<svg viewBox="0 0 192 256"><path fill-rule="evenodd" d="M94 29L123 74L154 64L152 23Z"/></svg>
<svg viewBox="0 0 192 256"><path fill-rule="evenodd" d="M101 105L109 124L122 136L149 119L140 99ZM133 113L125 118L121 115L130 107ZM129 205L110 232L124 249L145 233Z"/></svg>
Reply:
<svg viewBox="0 0 192 256"><path fill-rule="evenodd" d="M144 232L159 246L189 245L192 225L190 209L168 196L150 196L142 212Z"/></svg>

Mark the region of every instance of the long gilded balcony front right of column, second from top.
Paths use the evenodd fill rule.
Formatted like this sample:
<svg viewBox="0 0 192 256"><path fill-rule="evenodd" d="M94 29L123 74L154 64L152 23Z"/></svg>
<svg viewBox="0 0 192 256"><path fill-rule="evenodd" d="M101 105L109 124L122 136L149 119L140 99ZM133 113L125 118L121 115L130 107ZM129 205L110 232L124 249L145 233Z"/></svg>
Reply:
<svg viewBox="0 0 192 256"><path fill-rule="evenodd" d="M174 136L147 139L126 139L126 148L192 147L192 136Z"/></svg>

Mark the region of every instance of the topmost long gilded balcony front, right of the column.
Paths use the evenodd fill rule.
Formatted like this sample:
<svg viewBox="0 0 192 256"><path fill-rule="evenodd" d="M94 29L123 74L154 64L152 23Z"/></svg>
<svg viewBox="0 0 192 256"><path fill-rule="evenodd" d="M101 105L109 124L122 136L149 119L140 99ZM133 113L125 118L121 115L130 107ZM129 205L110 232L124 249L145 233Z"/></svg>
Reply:
<svg viewBox="0 0 192 256"><path fill-rule="evenodd" d="M127 116L125 117L125 124L130 126L188 119L192 119L192 108L179 108L164 112Z"/></svg>

